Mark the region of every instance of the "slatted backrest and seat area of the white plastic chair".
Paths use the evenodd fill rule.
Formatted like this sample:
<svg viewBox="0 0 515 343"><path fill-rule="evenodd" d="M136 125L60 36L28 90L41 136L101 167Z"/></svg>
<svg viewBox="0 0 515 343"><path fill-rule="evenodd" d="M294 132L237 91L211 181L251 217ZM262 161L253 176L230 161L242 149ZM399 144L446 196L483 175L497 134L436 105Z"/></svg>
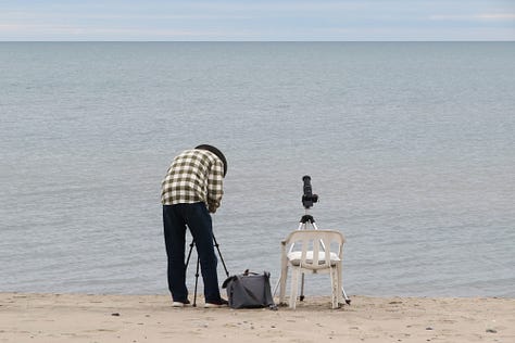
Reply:
<svg viewBox="0 0 515 343"><path fill-rule="evenodd" d="M285 257L289 247L290 259L298 259L302 268L316 270L341 261L344 242L343 234L336 230L296 230L282 241L282 249Z"/></svg>

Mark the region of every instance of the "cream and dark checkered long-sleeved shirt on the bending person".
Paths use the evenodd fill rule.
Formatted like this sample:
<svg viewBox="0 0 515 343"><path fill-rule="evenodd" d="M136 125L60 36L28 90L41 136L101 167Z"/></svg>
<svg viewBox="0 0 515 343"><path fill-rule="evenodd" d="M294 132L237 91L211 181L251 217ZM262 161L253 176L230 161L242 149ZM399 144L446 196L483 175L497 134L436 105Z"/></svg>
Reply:
<svg viewBox="0 0 515 343"><path fill-rule="evenodd" d="M161 185L161 203L204 202L214 213L222 201L224 163L208 150L186 150L177 155Z"/></svg>

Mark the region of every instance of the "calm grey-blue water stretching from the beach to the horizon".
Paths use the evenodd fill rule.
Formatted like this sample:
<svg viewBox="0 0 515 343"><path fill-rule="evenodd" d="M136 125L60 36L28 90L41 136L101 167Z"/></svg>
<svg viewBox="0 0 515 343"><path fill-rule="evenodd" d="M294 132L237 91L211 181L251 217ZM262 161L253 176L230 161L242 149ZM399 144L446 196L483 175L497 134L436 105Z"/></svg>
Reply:
<svg viewBox="0 0 515 343"><path fill-rule="evenodd" d="M166 294L160 183L205 142L230 274L275 285L310 175L350 296L514 297L514 94L515 42L2 42L0 291Z"/></svg>

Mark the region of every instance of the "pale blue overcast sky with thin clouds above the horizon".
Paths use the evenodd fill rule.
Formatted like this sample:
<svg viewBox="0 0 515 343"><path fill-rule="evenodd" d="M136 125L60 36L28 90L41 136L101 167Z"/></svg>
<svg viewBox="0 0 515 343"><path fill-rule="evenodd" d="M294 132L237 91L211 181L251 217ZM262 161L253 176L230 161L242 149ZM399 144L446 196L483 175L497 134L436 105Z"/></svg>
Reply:
<svg viewBox="0 0 515 343"><path fill-rule="evenodd" d="M515 40L515 0L0 0L13 40Z"/></svg>

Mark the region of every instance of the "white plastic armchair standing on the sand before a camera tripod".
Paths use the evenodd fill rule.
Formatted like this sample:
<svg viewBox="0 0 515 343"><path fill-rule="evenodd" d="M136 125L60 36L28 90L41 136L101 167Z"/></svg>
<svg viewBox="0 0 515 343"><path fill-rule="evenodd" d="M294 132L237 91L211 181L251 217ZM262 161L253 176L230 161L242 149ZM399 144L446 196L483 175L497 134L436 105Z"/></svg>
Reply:
<svg viewBox="0 0 515 343"><path fill-rule="evenodd" d="M331 307L340 307L343 303L341 265L344 242L343 234L335 230L292 231L281 242L279 304L284 304L288 269L291 268L290 308L297 307L299 276L306 272L330 275Z"/></svg>

